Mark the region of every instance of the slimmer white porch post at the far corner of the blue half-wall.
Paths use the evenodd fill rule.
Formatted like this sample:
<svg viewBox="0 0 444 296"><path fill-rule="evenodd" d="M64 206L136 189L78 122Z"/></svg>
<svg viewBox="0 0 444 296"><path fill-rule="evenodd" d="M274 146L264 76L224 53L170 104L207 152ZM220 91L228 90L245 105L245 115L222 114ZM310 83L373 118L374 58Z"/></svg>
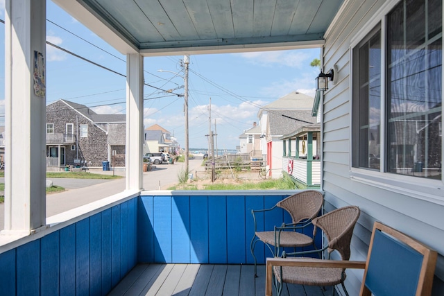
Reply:
<svg viewBox="0 0 444 296"><path fill-rule="evenodd" d="M144 57L126 55L126 190L143 189Z"/></svg>

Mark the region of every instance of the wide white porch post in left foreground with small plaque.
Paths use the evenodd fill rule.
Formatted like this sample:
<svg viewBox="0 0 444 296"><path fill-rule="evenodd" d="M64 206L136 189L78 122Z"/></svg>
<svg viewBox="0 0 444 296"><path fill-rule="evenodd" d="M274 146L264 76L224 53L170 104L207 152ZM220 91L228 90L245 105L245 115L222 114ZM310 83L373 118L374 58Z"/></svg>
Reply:
<svg viewBox="0 0 444 296"><path fill-rule="evenodd" d="M1 234L29 234L46 224L46 0L6 0L5 11L5 230Z"/></svg>

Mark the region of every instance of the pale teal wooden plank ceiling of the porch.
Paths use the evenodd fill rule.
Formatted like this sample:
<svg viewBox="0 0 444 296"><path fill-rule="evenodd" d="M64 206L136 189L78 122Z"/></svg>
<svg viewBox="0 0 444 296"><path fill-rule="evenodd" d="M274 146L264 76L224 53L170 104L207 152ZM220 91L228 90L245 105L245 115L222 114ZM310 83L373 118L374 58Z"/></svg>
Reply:
<svg viewBox="0 0 444 296"><path fill-rule="evenodd" d="M343 2L54 0L61 6L67 1L80 3L140 51L322 42L327 27ZM71 15L76 17L76 12Z"/></svg>

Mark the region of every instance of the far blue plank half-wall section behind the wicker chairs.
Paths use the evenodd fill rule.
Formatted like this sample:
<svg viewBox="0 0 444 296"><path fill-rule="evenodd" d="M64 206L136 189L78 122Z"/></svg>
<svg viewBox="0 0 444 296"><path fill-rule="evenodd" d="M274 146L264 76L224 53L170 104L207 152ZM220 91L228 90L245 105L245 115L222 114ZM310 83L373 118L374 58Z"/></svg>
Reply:
<svg viewBox="0 0 444 296"><path fill-rule="evenodd" d="M155 263L254 263L252 209L268 209L288 195L144 195L138 207L138 261ZM291 217L282 209L257 214L258 231ZM311 235L313 229L306 229ZM321 245L321 236L317 245ZM265 263L268 248L257 243Z"/></svg>

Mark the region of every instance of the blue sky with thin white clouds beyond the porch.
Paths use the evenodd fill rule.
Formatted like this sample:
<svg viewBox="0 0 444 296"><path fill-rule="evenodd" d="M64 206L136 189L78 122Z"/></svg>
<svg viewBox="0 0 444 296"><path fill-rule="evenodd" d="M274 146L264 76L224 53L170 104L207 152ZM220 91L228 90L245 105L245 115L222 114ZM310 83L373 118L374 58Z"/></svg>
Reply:
<svg viewBox="0 0 444 296"><path fill-rule="evenodd" d="M4 0L0 0L4 20ZM126 56L115 51L51 1L46 6L46 40L103 67L126 75ZM4 69L4 25L0 24L0 67ZM219 55L189 59L189 147L206 148L211 121L216 121L219 149L234 149L239 135L259 121L257 112L290 92L314 96L318 69L310 67L320 49ZM159 89L183 87L180 56L144 59L145 83ZM157 71L163 69L164 72ZM167 72L171 71L171 72ZM0 73L0 125L4 122L4 70ZM46 103L64 98L99 114L125 114L126 78L46 45ZM144 125L169 130L185 146L183 97L144 87ZM183 94L178 88L176 94Z"/></svg>

